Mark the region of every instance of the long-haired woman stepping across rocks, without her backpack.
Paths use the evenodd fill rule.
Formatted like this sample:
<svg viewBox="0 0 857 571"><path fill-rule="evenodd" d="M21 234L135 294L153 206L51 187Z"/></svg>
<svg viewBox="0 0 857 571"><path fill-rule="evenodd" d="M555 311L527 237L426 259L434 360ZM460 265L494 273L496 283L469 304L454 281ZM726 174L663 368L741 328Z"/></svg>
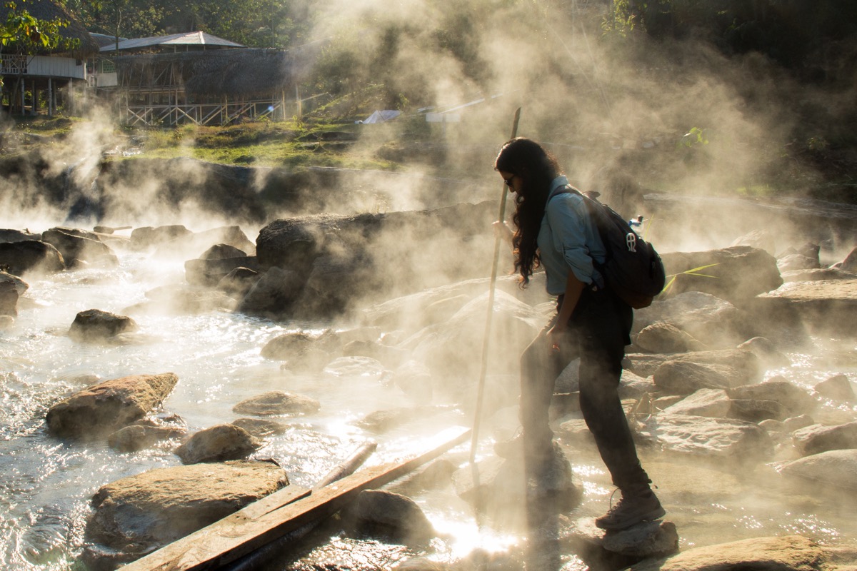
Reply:
<svg viewBox="0 0 857 571"><path fill-rule="evenodd" d="M608 288L597 267L605 248L583 197L560 172L556 159L533 140L510 140L494 162L517 205L511 235L522 285L543 266L557 313L521 356L521 424L527 473L553 453L548 407L554 381L580 357L580 410L622 497L596 526L619 530L666 512L650 489L619 398L621 361L631 342L633 312Z"/></svg>

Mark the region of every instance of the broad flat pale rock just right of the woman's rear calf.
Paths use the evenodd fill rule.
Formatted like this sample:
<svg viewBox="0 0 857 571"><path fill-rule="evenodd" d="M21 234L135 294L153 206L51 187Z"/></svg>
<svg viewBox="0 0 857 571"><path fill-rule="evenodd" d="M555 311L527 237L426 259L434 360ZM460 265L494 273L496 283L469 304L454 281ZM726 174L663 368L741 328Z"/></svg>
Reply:
<svg viewBox="0 0 857 571"><path fill-rule="evenodd" d="M660 413L638 421L638 433L672 452L713 457L770 455L768 433L750 422Z"/></svg>

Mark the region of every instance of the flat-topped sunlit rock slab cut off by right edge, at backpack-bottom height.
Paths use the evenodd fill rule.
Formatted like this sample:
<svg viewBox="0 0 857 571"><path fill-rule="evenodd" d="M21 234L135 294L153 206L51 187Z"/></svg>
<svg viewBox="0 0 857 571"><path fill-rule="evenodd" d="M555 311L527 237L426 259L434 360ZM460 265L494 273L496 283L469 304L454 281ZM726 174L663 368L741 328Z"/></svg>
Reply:
<svg viewBox="0 0 857 571"><path fill-rule="evenodd" d="M800 325L818 335L845 335L857 321L857 279L790 282L754 300L765 323Z"/></svg>

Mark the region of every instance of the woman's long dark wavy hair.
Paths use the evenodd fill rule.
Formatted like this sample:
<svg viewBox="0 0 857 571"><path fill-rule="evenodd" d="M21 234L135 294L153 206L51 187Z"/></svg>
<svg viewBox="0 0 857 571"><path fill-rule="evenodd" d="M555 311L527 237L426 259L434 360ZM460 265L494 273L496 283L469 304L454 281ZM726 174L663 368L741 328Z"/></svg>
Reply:
<svg viewBox="0 0 857 571"><path fill-rule="evenodd" d="M520 272L521 285L526 287L533 270L541 263L536 239L542 227L550 183L561 174L560 165L554 155L536 141L518 137L500 149L494 170L502 170L521 179L520 192L515 197L517 208L512 217L515 223L512 248L515 271Z"/></svg>

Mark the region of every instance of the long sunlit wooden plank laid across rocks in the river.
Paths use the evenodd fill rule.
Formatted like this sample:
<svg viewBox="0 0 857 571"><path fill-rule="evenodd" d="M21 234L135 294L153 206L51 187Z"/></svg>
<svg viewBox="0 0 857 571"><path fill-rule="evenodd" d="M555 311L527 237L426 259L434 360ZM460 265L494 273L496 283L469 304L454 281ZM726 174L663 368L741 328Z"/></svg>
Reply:
<svg viewBox="0 0 857 571"><path fill-rule="evenodd" d="M256 504L264 501L263 498L223 520L129 563L123 567L123 571L185 571L222 567L288 532L335 514L361 491L389 484L434 460L453 446L464 443L469 437L469 430L458 431L455 437L411 460L369 467L273 509L269 508L279 500L256 507ZM272 496L281 492L275 492Z"/></svg>

